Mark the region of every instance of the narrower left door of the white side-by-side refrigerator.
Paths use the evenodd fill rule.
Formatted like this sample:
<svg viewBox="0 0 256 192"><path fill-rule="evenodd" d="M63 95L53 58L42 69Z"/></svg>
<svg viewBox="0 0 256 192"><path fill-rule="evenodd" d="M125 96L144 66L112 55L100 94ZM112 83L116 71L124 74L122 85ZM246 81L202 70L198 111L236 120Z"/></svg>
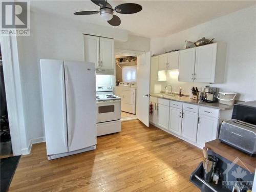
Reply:
<svg viewBox="0 0 256 192"><path fill-rule="evenodd" d="M64 65L40 60L47 155L68 152Z"/></svg>

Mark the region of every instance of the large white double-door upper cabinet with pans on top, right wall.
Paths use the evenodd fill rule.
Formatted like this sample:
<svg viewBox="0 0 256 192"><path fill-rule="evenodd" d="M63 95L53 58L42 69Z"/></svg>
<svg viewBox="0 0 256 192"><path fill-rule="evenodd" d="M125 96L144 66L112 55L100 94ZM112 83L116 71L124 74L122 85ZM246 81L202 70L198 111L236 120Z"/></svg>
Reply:
<svg viewBox="0 0 256 192"><path fill-rule="evenodd" d="M226 44L218 42L181 50L179 81L221 83L224 79Z"/></svg>

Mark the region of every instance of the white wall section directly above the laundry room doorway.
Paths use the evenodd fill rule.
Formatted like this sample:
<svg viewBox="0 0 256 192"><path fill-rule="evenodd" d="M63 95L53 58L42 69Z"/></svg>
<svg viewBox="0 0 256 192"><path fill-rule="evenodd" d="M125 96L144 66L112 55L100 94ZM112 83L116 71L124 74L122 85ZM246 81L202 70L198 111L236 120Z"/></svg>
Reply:
<svg viewBox="0 0 256 192"><path fill-rule="evenodd" d="M150 38L128 35L125 42L115 40L115 49L148 52L150 51Z"/></svg>

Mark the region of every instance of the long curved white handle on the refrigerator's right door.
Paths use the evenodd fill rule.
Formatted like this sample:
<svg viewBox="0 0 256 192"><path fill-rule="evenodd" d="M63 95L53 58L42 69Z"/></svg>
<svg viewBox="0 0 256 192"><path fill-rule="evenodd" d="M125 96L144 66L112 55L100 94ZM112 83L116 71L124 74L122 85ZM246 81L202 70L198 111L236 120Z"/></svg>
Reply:
<svg viewBox="0 0 256 192"><path fill-rule="evenodd" d="M68 69L66 68L66 66L64 65L64 69L65 69L65 78L66 78L66 98L67 98L67 126L68 126L68 143L69 143L69 146L71 145L71 142L72 142L72 139L71 139L71 136L72 136L72 129L71 129L71 126L70 126L70 114L69 114L69 111L70 111L70 84L69 84L69 74L68 74Z"/></svg>

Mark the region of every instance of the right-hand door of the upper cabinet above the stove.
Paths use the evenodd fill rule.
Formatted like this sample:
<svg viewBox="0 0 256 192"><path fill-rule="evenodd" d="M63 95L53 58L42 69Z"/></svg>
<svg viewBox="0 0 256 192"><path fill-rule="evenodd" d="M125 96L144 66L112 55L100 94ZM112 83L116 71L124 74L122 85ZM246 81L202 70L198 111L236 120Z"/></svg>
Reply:
<svg viewBox="0 0 256 192"><path fill-rule="evenodd" d="M100 37L100 69L114 69L114 39Z"/></svg>

